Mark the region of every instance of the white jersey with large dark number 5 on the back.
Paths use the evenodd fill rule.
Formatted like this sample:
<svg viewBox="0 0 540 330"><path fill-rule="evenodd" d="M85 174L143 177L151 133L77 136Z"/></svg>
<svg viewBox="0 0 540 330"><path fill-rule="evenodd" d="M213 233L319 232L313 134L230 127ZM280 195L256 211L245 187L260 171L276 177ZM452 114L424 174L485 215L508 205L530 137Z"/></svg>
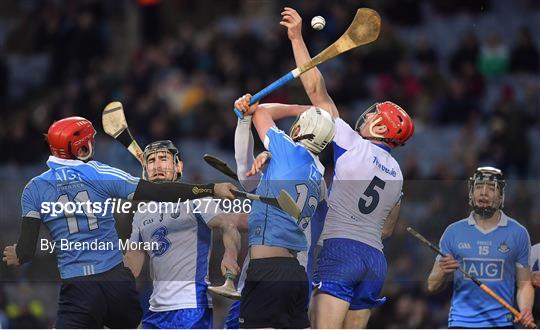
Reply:
<svg viewBox="0 0 540 330"><path fill-rule="evenodd" d="M383 249L384 222L401 199L403 176L385 146L336 119L334 178L321 239L348 238Z"/></svg>

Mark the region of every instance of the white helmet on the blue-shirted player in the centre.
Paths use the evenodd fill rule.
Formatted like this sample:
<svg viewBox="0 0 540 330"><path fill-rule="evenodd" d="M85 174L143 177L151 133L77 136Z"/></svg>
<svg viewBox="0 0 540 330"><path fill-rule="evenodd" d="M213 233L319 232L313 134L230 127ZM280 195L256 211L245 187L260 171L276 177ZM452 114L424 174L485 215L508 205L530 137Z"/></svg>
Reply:
<svg viewBox="0 0 540 330"><path fill-rule="evenodd" d="M300 129L295 132L296 128ZM336 134L336 121L321 108L310 107L296 118L289 135L302 143L309 151L319 154Z"/></svg>

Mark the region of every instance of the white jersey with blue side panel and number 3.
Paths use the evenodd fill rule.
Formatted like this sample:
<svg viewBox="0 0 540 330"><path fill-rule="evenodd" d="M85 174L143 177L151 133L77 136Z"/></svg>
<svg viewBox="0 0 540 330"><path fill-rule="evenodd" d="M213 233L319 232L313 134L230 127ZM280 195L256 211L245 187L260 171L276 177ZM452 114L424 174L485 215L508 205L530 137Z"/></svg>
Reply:
<svg viewBox="0 0 540 330"><path fill-rule="evenodd" d="M163 213L137 212L133 218L130 241L159 245L158 250L147 251L154 285L150 297L153 312L212 307L207 294L212 232L207 224L222 211L210 199L177 206Z"/></svg>

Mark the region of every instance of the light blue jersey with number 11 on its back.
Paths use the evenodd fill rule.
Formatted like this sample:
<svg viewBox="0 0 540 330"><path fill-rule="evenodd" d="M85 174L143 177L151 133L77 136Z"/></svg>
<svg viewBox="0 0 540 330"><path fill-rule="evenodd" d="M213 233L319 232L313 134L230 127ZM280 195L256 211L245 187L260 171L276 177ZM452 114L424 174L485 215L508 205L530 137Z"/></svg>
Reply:
<svg viewBox="0 0 540 330"><path fill-rule="evenodd" d="M139 179L96 161L51 156L47 165L24 188L22 216L41 219L49 229L60 276L98 274L121 263L112 198L131 199ZM71 206L55 212L55 202Z"/></svg>

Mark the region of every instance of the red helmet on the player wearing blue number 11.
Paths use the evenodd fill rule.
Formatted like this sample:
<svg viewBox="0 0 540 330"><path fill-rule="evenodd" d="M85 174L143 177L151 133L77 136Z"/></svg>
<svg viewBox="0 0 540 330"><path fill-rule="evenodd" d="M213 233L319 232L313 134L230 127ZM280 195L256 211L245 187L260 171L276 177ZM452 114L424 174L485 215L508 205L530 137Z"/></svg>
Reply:
<svg viewBox="0 0 540 330"><path fill-rule="evenodd" d="M64 159L88 160L92 157L96 130L83 117L67 117L54 122L47 132L47 142L53 156ZM79 157L79 150L86 148L88 156Z"/></svg>

